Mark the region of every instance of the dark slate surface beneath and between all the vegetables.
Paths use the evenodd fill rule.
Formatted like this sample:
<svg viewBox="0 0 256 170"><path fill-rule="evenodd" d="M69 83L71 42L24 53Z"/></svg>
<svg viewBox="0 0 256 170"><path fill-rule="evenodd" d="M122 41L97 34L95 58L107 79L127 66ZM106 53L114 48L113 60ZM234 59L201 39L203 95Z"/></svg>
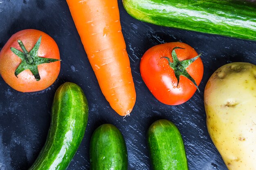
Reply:
<svg viewBox="0 0 256 170"><path fill-rule="evenodd" d="M68 170L89 169L89 144L99 125L117 126L126 140L129 170L150 170L146 130L157 119L173 121L180 129L190 170L227 170L205 124L203 91L211 74L229 62L256 64L256 42L181 31L139 22L119 1L137 101L130 117L117 115L101 94L65 0L0 0L0 49L22 29L38 29L54 38L61 53L56 82L36 93L20 93L0 78L0 170L27 170L45 143L54 92L64 82L79 84L88 98L89 120L85 137ZM201 92L180 106L166 106L149 92L139 73L141 56L150 47L182 41L202 53Z"/></svg>

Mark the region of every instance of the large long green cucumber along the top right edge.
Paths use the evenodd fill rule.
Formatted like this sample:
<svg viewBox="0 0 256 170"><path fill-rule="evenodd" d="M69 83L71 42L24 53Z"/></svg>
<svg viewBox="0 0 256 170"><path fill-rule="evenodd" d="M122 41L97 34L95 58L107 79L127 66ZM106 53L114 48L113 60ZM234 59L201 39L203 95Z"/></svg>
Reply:
<svg viewBox="0 0 256 170"><path fill-rule="evenodd" d="M135 19L256 41L256 3L245 0L123 0Z"/></svg>

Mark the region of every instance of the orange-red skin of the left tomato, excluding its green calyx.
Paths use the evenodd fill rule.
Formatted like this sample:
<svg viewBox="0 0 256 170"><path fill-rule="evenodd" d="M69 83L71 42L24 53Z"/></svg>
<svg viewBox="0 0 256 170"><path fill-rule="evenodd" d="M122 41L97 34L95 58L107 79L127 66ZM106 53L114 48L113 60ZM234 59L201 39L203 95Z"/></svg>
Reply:
<svg viewBox="0 0 256 170"><path fill-rule="evenodd" d="M51 86L58 77L61 68L60 61L38 65L38 72L41 77L39 81L36 81L29 70L22 71L17 77L14 75L21 59L10 48L14 47L22 51L17 42L21 40L27 51L31 51L41 35L42 40L38 49L38 56L59 60L60 53L56 42L46 33L35 29L26 29L13 34L0 51L0 74L4 81L17 91L41 91Z"/></svg>

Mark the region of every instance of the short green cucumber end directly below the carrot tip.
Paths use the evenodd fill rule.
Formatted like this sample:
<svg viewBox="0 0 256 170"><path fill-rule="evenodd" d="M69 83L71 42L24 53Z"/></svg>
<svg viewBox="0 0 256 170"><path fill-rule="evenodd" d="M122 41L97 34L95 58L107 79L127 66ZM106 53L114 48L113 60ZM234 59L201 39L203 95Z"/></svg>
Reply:
<svg viewBox="0 0 256 170"><path fill-rule="evenodd" d="M127 170L126 143L112 124L103 124L93 133L90 143L90 170Z"/></svg>

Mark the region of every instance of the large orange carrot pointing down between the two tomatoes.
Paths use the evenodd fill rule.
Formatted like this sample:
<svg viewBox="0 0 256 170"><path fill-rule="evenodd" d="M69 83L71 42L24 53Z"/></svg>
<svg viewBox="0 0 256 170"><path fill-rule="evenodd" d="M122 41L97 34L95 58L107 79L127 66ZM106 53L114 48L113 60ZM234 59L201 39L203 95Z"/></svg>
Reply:
<svg viewBox="0 0 256 170"><path fill-rule="evenodd" d="M117 0L67 0L67 4L103 95L119 115L129 115L136 93Z"/></svg>

